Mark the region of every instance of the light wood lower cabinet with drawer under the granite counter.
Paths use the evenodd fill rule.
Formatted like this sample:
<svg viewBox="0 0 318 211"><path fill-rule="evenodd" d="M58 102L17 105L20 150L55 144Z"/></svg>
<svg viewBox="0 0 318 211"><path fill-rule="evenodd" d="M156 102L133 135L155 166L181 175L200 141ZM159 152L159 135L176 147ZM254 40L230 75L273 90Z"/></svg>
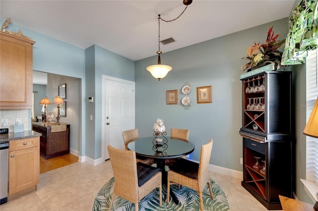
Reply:
<svg viewBox="0 0 318 211"><path fill-rule="evenodd" d="M9 141L8 199L37 189L40 175L40 137Z"/></svg>

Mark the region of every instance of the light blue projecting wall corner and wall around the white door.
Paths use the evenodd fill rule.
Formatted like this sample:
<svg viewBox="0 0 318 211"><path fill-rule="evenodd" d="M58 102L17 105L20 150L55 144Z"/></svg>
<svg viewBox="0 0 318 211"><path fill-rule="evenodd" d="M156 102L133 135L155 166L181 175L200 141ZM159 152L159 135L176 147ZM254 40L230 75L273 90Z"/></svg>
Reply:
<svg viewBox="0 0 318 211"><path fill-rule="evenodd" d="M102 75L134 81L135 64L134 61L128 58L96 45L85 50L85 57L86 121L89 122L86 127L86 131L88 131L86 147L88 148L88 145L94 146L94 148L89 148L89 151L86 152L90 158L97 159L101 158L102 155ZM88 97L94 97L94 103L88 103ZM90 114L93 114L92 121L89 120Z"/></svg>

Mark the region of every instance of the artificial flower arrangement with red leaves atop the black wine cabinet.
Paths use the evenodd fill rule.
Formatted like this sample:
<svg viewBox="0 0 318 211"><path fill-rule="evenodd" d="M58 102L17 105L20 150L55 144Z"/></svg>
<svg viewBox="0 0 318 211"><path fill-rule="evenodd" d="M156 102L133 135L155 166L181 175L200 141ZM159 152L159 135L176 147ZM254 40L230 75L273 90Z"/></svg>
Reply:
<svg viewBox="0 0 318 211"><path fill-rule="evenodd" d="M274 63L277 65L277 68L279 68L282 52L279 52L278 48L285 43L285 39L277 40L279 35L280 34L274 36L273 26L270 26L267 32L266 42L263 44L256 44L254 42L254 45L246 50L248 56L242 59L248 59L249 62L241 66L241 71L248 72L269 63Z"/></svg>

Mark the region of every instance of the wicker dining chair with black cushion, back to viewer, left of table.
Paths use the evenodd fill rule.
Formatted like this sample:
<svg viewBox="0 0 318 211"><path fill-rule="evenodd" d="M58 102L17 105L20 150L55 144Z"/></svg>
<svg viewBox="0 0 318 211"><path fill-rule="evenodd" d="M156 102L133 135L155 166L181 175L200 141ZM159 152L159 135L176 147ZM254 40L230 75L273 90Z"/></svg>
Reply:
<svg viewBox="0 0 318 211"><path fill-rule="evenodd" d="M136 152L116 149L107 146L115 185L108 210L111 211L115 195L135 204L154 189L159 188L159 206L162 205L161 171L160 168L136 161Z"/></svg>

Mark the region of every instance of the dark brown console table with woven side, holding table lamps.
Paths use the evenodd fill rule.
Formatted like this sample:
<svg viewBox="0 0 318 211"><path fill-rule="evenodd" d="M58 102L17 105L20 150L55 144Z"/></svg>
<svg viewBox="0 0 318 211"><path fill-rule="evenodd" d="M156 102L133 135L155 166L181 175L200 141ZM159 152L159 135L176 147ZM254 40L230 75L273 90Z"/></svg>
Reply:
<svg viewBox="0 0 318 211"><path fill-rule="evenodd" d="M32 130L42 134L40 155L43 158L49 159L70 153L70 124L32 122Z"/></svg>

